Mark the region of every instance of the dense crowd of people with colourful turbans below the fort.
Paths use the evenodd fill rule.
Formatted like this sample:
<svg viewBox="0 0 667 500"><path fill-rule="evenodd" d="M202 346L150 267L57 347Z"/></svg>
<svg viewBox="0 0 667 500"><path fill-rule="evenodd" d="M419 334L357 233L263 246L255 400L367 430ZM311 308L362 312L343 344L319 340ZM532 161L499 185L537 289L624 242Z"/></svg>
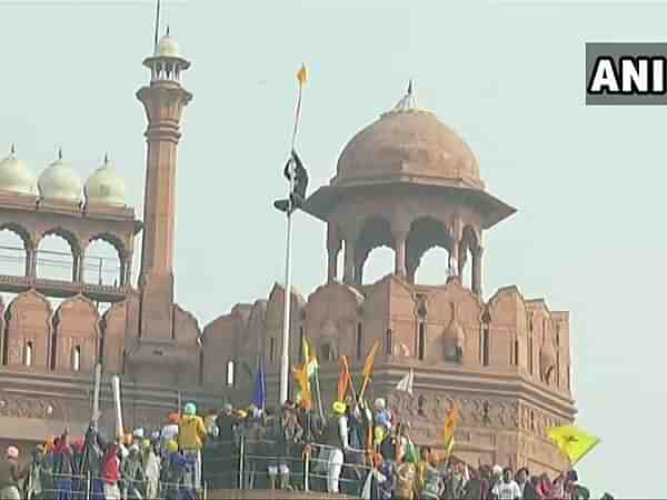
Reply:
<svg viewBox="0 0 667 500"><path fill-rule="evenodd" d="M297 398L281 408L197 414L193 403L153 432L136 429L107 439L91 422L86 436L67 431L30 451L7 449L0 500L189 500L222 489L345 493L365 500L588 500L569 470L556 478L526 468L471 467L418 448L407 422L384 399L374 408L337 401L329 416ZM450 450L451 451L451 450ZM611 500L613 497L603 497Z"/></svg>

